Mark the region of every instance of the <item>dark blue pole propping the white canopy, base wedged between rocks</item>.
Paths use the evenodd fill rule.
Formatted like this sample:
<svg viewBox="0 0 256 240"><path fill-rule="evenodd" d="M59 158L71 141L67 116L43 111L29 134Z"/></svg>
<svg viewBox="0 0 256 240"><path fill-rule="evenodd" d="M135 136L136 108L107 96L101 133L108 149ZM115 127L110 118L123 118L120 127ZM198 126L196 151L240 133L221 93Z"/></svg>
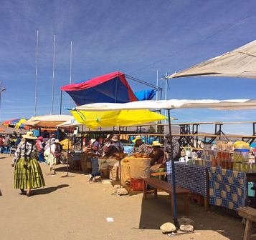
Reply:
<svg viewBox="0 0 256 240"><path fill-rule="evenodd" d="M176 180L175 180L175 165L174 165L174 146L172 141L172 134L171 134L171 114L170 109L168 109L168 121L169 121L169 133L170 133L170 144L171 144L171 186L172 186L172 194L173 194L173 201L174 201L174 225L179 226L179 222L177 219L177 199L176 199Z"/></svg>

